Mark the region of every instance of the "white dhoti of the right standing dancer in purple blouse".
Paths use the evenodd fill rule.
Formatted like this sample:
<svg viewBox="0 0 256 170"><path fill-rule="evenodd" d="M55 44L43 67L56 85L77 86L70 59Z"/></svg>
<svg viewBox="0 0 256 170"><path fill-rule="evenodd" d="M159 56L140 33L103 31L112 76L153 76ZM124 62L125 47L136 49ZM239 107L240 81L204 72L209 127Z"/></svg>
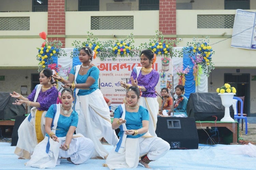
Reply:
<svg viewBox="0 0 256 170"><path fill-rule="evenodd" d="M159 109L159 104L157 102L157 98L153 97L141 97L139 100L139 104L145 107L148 110L148 114L150 117L148 124L148 132L152 136L156 135L156 123L157 123L157 114Z"/></svg>

